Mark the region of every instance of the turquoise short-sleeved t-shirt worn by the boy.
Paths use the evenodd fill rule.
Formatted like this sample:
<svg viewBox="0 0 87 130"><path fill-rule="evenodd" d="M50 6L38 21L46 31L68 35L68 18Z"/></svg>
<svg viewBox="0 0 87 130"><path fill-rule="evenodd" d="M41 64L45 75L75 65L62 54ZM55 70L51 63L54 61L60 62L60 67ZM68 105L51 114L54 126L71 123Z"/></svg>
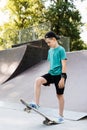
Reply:
<svg viewBox="0 0 87 130"><path fill-rule="evenodd" d="M60 75L62 73L61 60L64 59L66 59L66 52L62 46L50 48L48 51L48 61L50 62L50 70L48 73L51 75Z"/></svg>

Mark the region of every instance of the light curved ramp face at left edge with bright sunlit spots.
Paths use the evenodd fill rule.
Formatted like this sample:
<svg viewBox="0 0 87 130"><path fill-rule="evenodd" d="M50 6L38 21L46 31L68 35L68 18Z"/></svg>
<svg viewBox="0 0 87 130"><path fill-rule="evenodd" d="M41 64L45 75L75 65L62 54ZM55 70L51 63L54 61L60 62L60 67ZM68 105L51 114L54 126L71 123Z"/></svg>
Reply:
<svg viewBox="0 0 87 130"><path fill-rule="evenodd" d="M26 46L0 51L0 84L7 81L19 66Z"/></svg>

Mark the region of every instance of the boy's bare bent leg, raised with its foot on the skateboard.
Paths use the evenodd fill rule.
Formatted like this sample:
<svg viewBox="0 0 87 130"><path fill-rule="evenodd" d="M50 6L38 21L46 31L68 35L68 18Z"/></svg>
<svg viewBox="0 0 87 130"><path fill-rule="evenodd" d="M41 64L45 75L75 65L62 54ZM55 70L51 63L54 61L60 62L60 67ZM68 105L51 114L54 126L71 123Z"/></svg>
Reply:
<svg viewBox="0 0 87 130"><path fill-rule="evenodd" d="M35 80L34 84L34 101L37 105L39 105L40 93L41 93L41 85L47 83L47 80L44 77L39 77Z"/></svg>

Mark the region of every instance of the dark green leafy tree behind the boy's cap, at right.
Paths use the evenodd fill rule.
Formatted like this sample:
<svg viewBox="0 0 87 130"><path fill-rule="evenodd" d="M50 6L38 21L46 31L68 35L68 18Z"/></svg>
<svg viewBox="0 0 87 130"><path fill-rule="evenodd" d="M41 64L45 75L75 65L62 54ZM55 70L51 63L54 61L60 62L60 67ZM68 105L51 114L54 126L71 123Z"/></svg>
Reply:
<svg viewBox="0 0 87 130"><path fill-rule="evenodd" d="M60 0L61 1L61 0ZM81 15L76 10L73 3L62 0L55 1L48 8L47 21L51 22L51 30L55 31L59 35L70 37L72 50L72 43L80 39L80 27L83 25L81 22ZM84 43L83 43L84 44ZM74 46L75 47L75 46Z"/></svg>

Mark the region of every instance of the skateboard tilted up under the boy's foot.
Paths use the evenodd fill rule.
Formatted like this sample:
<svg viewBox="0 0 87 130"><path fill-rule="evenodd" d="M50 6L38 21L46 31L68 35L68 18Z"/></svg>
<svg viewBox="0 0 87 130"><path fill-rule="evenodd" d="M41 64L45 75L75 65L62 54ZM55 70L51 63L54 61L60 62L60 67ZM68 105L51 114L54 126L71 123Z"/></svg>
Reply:
<svg viewBox="0 0 87 130"><path fill-rule="evenodd" d="M39 110L29 106L29 104L27 102L25 102L23 99L20 99L21 103L23 105L26 106L26 108L24 109L25 111L29 110L33 110L34 112L38 113L39 115L41 115L42 117L45 118L45 120L43 121L43 124L45 125L56 125L56 124L59 124L57 121L51 119L50 117L46 116L44 113L40 112Z"/></svg>

